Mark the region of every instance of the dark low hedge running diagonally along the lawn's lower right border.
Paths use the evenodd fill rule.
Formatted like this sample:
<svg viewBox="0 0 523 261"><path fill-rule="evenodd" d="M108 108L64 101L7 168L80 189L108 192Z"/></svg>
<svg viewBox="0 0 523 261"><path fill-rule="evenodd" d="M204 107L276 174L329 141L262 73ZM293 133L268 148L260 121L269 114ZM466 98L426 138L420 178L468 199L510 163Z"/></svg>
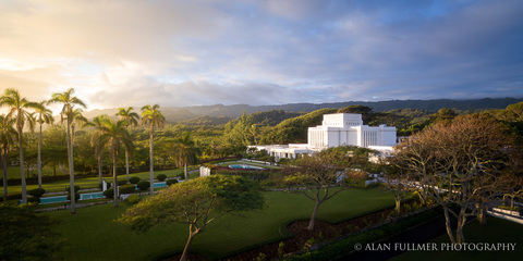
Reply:
<svg viewBox="0 0 523 261"><path fill-rule="evenodd" d="M381 238L399 234L412 226L422 224L423 222L434 219L439 214L441 214L441 209L439 207L434 208L428 211L401 219L397 222L388 223L386 225L338 240L318 250L308 251L306 253L291 257L285 260L314 261L340 259L346 257L352 250L354 250L355 244L361 244L362 246L365 246L366 244L378 241Z"/></svg>

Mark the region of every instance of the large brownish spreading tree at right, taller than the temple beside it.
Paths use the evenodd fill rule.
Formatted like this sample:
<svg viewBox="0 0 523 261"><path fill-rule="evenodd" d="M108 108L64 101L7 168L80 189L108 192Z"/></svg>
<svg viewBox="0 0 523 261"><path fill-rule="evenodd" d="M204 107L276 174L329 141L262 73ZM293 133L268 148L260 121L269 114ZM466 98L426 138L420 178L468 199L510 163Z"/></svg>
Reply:
<svg viewBox="0 0 523 261"><path fill-rule="evenodd" d="M495 195L513 190L513 175L504 171L510 137L483 114L440 122L397 146L402 167L443 208L447 234L453 244L465 241L466 217L485 214ZM458 220L455 234L451 216Z"/></svg>

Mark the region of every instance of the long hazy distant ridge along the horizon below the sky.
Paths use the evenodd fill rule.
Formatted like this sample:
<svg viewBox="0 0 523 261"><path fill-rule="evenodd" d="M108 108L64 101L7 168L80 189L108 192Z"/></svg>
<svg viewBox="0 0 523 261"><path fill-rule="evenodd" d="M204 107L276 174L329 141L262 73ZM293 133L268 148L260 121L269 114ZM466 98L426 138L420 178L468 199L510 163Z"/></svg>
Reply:
<svg viewBox="0 0 523 261"><path fill-rule="evenodd" d="M200 116L209 117L230 117L235 119L242 115L243 111L246 114L255 112L264 112L270 110L283 110L287 112L312 112L324 108L339 109L348 105L366 105L373 108L375 112L386 112L394 109L421 109L430 112L437 112L442 108L450 108L462 111L482 111L490 109L504 109L509 104L523 101L523 98L485 98L474 100L452 100L452 99L437 99L437 100L390 100L390 101L344 101L330 103L289 103L278 105L248 105L248 104L233 104L233 105L195 105L195 107L161 107L160 110L166 116L168 123L178 123L188 121ZM141 108L134 110L139 114ZM84 113L84 116L92 119L99 114L114 115L118 109L93 110ZM223 119L221 119L223 121Z"/></svg>

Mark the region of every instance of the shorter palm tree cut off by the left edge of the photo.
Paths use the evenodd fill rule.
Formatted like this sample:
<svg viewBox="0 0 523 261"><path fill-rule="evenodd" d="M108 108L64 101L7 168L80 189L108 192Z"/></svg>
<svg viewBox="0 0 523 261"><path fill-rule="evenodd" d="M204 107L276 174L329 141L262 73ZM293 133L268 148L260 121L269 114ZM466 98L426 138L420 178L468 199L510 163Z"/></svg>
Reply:
<svg viewBox="0 0 523 261"><path fill-rule="evenodd" d="M8 195L8 154L16 142L16 129L13 127L14 119L0 115L0 154L3 170L3 197Z"/></svg>

